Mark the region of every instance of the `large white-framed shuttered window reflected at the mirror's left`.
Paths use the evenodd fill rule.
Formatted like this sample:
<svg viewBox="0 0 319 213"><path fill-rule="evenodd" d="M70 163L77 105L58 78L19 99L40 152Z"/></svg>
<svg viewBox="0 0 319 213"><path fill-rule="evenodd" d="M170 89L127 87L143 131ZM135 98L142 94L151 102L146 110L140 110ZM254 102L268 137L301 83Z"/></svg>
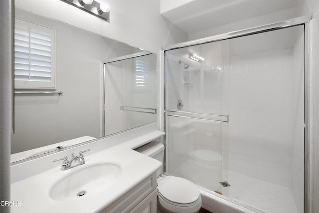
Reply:
<svg viewBox="0 0 319 213"><path fill-rule="evenodd" d="M16 89L55 89L55 30L15 18Z"/></svg>

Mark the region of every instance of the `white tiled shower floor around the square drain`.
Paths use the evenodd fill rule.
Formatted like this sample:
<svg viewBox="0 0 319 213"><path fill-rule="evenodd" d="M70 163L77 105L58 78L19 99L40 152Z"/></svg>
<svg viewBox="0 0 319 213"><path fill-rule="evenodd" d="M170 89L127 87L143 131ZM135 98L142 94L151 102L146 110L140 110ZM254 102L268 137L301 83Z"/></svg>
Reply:
<svg viewBox="0 0 319 213"><path fill-rule="evenodd" d="M218 187L218 191L222 191L223 195L230 200L266 213L298 213L290 188L228 171L228 182L231 187L220 190L219 181L213 179L213 173L216 171L202 170L200 172L198 166L197 164L195 168L193 162L186 161L172 175L186 178L213 191Z"/></svg>

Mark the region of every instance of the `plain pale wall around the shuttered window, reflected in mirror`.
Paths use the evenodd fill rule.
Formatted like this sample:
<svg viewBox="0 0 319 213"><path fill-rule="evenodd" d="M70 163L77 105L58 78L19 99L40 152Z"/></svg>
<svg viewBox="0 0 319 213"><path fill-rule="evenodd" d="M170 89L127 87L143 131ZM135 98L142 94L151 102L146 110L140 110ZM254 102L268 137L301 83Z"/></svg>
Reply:
<svg viewBox="0 0 319 213"><path fill-rule="evenodd" d="M134 48L99 35L16 9L24 20L56 30L58 96L16 96L12 153L82 136L101 136L101 62Z"/></svg>

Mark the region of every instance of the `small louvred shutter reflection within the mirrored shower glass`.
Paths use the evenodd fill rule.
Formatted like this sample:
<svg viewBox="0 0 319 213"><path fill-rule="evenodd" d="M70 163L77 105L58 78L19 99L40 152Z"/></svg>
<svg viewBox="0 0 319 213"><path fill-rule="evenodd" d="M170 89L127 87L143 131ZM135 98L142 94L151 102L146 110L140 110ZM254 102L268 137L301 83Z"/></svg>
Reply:
<svg viewBox="0 0 319 213"><path fill-rule="evenodd" d="M135 86L143 87L149 85L149 70L150 63L147 60L143 60L142 57L135 59Z"/></svg>

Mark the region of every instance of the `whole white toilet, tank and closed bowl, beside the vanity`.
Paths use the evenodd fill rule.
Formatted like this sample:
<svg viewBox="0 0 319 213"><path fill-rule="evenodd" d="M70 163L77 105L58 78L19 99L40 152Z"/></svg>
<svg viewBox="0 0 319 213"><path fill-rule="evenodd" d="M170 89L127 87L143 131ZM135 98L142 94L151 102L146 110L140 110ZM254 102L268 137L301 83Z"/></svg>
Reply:
<svg viewBox="0 0 319 213"><path fill-rule="evenodd" d="M152 141L136 149L163 163L164 145ZM157 213L197 213L201 208L201 196L198 187L175 176L160 176L162 168L157 171Z"/></svg>

